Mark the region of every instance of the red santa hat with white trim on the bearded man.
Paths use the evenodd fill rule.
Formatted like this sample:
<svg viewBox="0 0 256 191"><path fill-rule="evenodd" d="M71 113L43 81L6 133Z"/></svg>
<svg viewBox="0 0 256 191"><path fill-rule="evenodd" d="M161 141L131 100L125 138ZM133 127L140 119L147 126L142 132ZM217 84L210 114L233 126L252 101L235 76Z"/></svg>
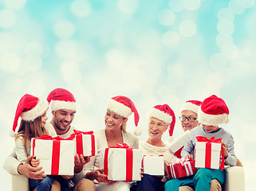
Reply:
<svg viewBox="0 0 256 191"><path fill-rule="evenodd" d="M57 88L50 92L47 101L49 103L52 101L52 111L60 109L77 111L77 102L73 94L62 88Z"/></svg>

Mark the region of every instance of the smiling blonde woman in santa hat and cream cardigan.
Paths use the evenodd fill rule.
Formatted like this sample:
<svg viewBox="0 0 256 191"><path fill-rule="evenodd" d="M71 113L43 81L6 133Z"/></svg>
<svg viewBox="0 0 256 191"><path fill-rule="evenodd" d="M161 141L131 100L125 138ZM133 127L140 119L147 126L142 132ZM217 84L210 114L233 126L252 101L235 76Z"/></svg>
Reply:
<svg viewBox="0 0 256 191"><path fill-rule="evenodd" d="M97 150L116 146L117 143L127 143L128 146L134 149L139 148L139 139L135 135L126 132L126 123L132 112L134 113L135 124L137 126L140 117L131 99L124 96L116 96L108 100L107 111L104 117L105 128L96 132ZM86 173L86 178L101 183L96 184L97 191L106 189L114 191L130 190L128 181L114 181L112 184L107 184L110 181L106 180L107 176L103 174L103 169L99 169L99 167L100 152L98 152L96 157L92 157L89 164L85 166L87 170L89 169L88 173Z"/></svg>

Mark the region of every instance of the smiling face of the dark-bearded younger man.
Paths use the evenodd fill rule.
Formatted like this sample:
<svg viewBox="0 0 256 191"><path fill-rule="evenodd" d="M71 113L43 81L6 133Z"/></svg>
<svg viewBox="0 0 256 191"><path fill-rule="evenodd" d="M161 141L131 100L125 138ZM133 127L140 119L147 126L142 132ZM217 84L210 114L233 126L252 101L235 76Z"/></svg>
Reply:
<svg viewBox="0 0 256 191"><path fill-rule="evenodd" d="M70 124L72 123L76 111L61 109L52 111L53 113L53 127L57 134L65 134L69 131Z"/></svg>

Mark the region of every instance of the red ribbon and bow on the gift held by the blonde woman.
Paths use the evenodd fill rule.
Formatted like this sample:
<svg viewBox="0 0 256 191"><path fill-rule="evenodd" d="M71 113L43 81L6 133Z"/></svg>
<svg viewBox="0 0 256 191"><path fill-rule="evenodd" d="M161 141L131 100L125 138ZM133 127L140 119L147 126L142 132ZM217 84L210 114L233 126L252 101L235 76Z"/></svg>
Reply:
<svg viewBox="0 0 256 191"><path fill-rule="evenodd" d="M108 176L108 151L110 148L120 148L126 150L126 180L125 181L132 181L132 168L133 166L133 151L132 147L128 146L128 144L116 144L117 146L111 146L105 149L104 153L104 174ZM105 180L108 180L106 177Z"/></svg>

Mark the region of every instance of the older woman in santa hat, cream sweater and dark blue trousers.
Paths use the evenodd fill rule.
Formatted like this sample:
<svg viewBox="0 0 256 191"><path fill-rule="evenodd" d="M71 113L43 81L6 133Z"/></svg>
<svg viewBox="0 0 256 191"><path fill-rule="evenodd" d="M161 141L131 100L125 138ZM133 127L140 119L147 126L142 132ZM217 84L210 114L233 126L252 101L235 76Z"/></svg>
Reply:
<svg viewBox="0 0 256 191"><path fill-rule="evenodd" d="M167 104L156 105L148 111L148 140L146 142L140 142L139 148L146 156L163 155L165 176L157 177L144 173L141 181L137 181L137 184L132 186L132 191L164 190L164 183L167 180L166 163L170 163L175 156L169 149L169 142L167 144L163 143L162 136L168 128L169 135L172 136L174 127L175 114Z"/></svg>

